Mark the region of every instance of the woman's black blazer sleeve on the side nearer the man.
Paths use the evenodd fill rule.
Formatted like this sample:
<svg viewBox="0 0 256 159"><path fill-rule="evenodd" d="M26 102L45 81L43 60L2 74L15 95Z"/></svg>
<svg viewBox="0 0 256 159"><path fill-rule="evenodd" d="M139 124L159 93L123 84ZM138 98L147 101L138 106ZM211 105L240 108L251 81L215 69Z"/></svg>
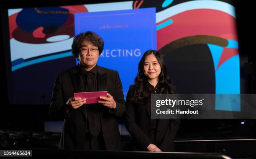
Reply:
<svg viewBox="0 0 256 159"><path fill-rule="evenodd" d="M135 121L135 109L134 103L131 101L131 98L134 96L134 87L130 86L129 91L126 96L126 113L125 113L125 127L128 132L134 137L140 146L146 150L149 144L151 144L151 139L141 130L138 124Z"/></svg>

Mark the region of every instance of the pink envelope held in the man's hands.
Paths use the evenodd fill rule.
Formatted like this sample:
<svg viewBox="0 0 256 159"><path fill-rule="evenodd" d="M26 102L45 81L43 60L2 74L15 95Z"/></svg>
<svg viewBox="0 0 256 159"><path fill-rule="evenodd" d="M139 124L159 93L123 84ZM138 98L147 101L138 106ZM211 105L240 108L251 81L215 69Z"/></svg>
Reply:
<svg viewBox="0 0 256 159"><path fill-rule="evenodd" d="M108 91L102 91L102 92L82 92L82 93L74 93L75 98L86 98L85 104L92 104L97 103L99 100L104 101L103 99L100 99L100 97L107 97Z"/></svg>

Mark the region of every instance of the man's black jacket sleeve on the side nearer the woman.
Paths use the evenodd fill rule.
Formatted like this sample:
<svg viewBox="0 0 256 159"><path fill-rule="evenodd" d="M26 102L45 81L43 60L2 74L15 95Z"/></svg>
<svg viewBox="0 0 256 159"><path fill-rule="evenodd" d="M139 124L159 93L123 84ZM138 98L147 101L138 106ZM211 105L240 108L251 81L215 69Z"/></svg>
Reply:
<svg viewBox="0 0 256 159"><path fill-rule="evenodd" d="M118 72L115 72L115 94L113 96L116 104L115 109L109 109L110 114L121 117L125 113L125 102L123 97L123 87Z"/></svg>

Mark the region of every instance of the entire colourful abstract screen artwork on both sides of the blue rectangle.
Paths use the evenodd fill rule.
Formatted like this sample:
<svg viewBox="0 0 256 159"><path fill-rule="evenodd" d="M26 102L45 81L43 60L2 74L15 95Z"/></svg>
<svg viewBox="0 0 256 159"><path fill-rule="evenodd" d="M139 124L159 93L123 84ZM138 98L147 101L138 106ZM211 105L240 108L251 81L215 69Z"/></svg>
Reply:
<svg viewBox="0 0 256 159"><path fill-rule="evenodd" d="M47 64L51 72L44 76L54 79L57 72L75 65L70 50L75 12L148 7L156 8L157 49L179 93L240 93L236 14L229 0L134 0L9 10L13 78ZM63 66L63 60L71 64ZM29 75L24 78L34 82ZM21 84L15 79L14 83ZM52 83L48 82L45 94L51 94ZM18 99L20 92L15 89L16 102L22 100ZM215 109L227 110L220 104ZM228 110L239 111L240 107Z"/></svg>

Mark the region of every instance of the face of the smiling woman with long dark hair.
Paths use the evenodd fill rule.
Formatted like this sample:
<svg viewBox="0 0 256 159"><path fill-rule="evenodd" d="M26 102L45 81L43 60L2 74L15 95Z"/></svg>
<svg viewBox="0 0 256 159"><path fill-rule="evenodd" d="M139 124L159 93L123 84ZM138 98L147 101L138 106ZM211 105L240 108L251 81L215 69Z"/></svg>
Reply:
<svg viewBox="0 0 256 159"><path fill-rule="evenodd" d="M146 57L144 62L144 74L148 77L148 80L158 80L158 76L161 72L161 66L154 54L150 54Z"/></svg>

